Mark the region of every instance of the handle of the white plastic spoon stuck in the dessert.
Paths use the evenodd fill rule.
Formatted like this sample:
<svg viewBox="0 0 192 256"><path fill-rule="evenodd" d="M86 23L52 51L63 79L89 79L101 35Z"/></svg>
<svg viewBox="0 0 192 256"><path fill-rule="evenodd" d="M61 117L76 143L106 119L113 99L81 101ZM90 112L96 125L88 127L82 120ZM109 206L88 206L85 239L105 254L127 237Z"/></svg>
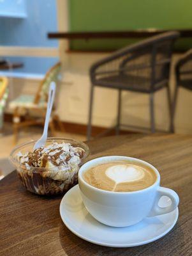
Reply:
<svg viewBox="0 0 192 256"><path fill-rule="evenodd" d="M47 102L47 113L45 117L45 125L43 130L43 137L47 140L47 131L48 131L48 123L50 119L50 114L52 111L52 106L54 104L54 98L55 98L55 82L50 83L49 92L48 92L48 102Z"/></svg>

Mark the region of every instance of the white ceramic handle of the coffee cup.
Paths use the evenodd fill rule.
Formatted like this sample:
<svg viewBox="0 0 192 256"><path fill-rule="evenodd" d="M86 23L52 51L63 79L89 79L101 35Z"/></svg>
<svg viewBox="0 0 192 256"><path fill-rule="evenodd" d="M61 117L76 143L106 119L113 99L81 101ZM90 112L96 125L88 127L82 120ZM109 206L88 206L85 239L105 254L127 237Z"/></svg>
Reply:
<svg viewBox="0 0 192 256"><path fill-rule="evenodd" d="M172 200L172 204L167 207L159 207L158 202L161 196L168 196L170 200ZM157 190L156 198L154 200L154 205L152 206L151 212L149 212L149 215L147 217L152 217L152 216L172 212L177 208L178 204L179 204L179 196L177 195L177 193L175 193L174 190L170 188L159 187Z"/></svg>

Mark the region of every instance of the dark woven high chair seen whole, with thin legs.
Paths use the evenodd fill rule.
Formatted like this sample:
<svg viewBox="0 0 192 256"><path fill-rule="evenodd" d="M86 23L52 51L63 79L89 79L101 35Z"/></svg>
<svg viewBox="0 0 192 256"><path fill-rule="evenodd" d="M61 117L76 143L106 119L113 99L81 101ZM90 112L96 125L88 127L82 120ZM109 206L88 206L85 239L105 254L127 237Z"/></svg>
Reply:
<svg viewBox="0 0 192 256"><path fill-rule="evenodd" d="M119 134L121 119L121 92L128 90L150 95L151 132L155 131L154 93L167 89L171 116L170 90L168 87L172 47L179 32L170 31L137 44L130 45L100 60L90 68L91 96L87 139L91 138L91 120L94 86L119 90L116 134Z"/></svg>

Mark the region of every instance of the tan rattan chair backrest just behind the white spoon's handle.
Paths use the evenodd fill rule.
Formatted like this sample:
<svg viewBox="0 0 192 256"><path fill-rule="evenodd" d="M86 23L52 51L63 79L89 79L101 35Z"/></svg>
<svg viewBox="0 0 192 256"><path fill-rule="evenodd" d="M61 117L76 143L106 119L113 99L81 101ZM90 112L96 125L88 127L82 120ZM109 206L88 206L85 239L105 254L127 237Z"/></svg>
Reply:
<svg viewBox="0 0 192 256"><path fill-rule="evenodd" d="M49 85L52 81L57 84L60 70L60 62L56 63L52 68L50 68L50 70L48 70L44 79L40 83L36 96L34 97L34 104L38 104L39 102L47 102Z"/></svg>

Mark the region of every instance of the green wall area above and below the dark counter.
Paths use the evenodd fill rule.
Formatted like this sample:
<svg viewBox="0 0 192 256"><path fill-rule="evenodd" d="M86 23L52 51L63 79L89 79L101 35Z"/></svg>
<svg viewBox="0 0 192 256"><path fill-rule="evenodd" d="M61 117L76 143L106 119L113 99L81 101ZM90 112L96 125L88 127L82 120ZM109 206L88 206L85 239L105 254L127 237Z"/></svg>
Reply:
<svg viewBox="0 0 192 256"><path fill-rule="evenodd" d="M132 29L192 29L191 0L70 0L71 31ZM135 42L127 39L73 40L72 49L118 49ZM177 48L192 47L181 39Z"/></svg>

